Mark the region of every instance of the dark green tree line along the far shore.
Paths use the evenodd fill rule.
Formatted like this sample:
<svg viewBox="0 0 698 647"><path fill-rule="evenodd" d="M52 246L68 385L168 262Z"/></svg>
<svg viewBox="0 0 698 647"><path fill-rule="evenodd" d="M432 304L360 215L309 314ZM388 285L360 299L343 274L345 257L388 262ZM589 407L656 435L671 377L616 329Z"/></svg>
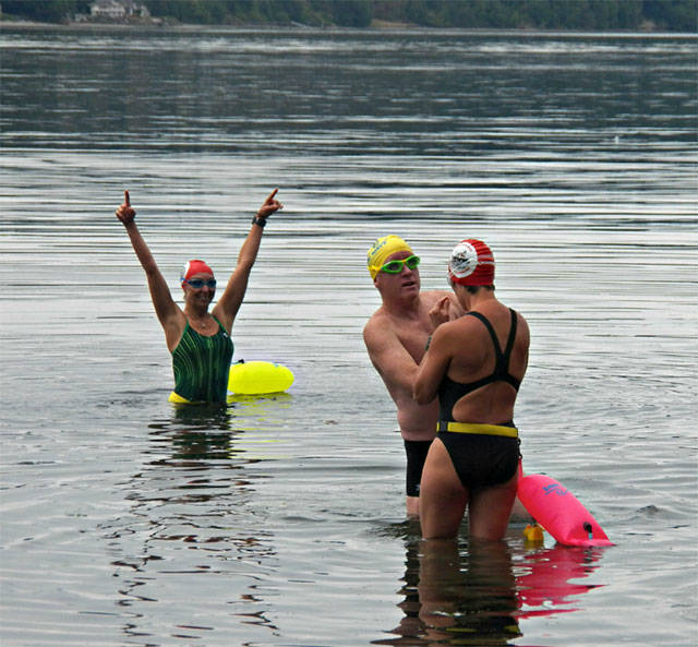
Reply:
<svg viewBox="0 0 698 647"><path fill-rule="evenodd" d="M65 22L94 0L2 0L3 15ZM137 0L136 0L137 1ZM140 0L153 17L207 25L698 32L698 0Z"/></svg>

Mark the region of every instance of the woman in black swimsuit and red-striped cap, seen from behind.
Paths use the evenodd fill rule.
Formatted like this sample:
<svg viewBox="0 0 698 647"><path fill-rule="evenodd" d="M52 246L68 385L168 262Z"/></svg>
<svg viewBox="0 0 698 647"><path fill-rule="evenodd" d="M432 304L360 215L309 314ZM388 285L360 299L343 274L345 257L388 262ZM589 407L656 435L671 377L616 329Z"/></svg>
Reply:
<svg viewBox="0 0 698 647"><path fill-rule="evenodd" d="M494 256L484 242L458 243L448 277L466 315L449 322L446 302L432 309L437 327L414 382L418 403L440 400L438 434L420 488L422 536L456 537L467 507L472 537L501 539L516 498L514 404L529 330L494 296Z"/></svg>

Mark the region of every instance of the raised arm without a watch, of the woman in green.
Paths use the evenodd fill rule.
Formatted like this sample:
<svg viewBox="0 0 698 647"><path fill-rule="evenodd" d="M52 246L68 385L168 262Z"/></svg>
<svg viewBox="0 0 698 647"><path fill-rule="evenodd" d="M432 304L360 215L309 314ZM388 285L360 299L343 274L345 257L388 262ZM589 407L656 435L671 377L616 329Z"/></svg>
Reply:
<svg viewBox="0 0 698 647"><path fill-rule="evenodd" d="M117 209L116 214L117 218L119 218L123 224L127 233L129 235L129 239L131 240L133 251L145 272L145 276L148 281L148 289L151 291L151 299L155 307L155 313L165 330L165 336L169 345L171 337L179 339L179 336L181 336L181 330L183 330L184 326L184 314L177 303L174 303L172 295L167 287L167 281L160 273L148 245L145 243L143 236L141 236L141 232L136 227L135 211L131 206L131 200L128 191L123 192L123 204Z"/></svg>

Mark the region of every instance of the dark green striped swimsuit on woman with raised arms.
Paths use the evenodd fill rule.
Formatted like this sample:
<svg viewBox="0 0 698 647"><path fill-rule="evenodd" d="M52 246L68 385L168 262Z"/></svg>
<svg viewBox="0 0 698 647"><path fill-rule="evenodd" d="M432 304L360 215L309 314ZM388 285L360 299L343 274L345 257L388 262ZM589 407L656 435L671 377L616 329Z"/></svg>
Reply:
<svg viewBox="0 0 698 647"><path fill-rule="evenodd" d="M232 339L217 319L216 323L218 332L206 337L188 321L172 351L174 393L192 403L225 403L228 395Z"/></svg>

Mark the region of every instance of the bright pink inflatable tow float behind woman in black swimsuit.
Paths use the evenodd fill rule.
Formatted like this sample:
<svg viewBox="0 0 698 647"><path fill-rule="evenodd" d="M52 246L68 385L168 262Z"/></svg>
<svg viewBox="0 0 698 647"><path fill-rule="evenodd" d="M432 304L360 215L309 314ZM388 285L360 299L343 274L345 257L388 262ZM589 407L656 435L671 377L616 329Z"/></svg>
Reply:
<svg viewBox="0 0 698 647"><path fill-rule="evenodd" d="M614 546L591 513L555 479L540 474L520 477L517 494L529 514L563 546Z"/></svg>

